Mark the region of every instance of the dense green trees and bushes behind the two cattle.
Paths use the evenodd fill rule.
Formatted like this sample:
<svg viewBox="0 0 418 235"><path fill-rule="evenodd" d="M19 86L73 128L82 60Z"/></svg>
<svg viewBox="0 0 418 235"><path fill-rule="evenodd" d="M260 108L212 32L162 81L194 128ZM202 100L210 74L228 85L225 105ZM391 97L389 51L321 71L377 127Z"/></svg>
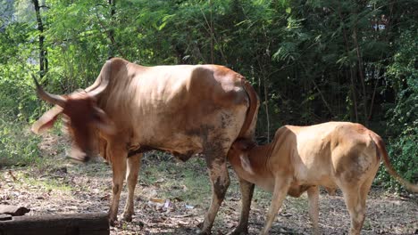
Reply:
<svg viewBox="0 0 418 235"><path fill-rule="evenodd" d="M104 61L215 63L261 99L257 140L282 125L364 124L418 180L418 4L411 0L0 0L0 166L36 163L29 126L51 93L96 79ZM377 182L397 189L380 172Z"/></svg>

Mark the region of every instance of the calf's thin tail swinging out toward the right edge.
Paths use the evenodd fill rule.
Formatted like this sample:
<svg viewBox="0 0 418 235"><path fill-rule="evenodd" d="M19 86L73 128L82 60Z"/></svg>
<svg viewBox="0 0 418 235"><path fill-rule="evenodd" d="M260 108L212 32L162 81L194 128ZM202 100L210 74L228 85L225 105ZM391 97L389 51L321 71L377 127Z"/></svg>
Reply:
<svg viewBox="0 0 418 235"><path fill-rule="evenodd" d="M374 133L370 134L370 136L372 137L373 142L376 144L378 156L383 158L383 163L386 166L389 174L397 179L397 181L400 182L406 188L406 190L418 192L418 185L407 182L404 178L397 174L397 171L393 168L392 164L390 164L388 151L386 150L385 143L380 138L380 136Z"/></svg>

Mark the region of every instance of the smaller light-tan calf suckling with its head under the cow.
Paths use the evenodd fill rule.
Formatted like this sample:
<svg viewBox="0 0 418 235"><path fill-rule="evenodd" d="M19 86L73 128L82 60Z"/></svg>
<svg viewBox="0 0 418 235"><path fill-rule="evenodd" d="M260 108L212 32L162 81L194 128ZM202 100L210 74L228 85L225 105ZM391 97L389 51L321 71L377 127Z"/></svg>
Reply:
<svg viewBox="0 0 418 235"><path fill-rule="evenodd" d="M406 189L418 191L417 185L406 182L390 165L380 136L355 123L282 126L271 143L258 146L238 139L228 153L239 177L272 191L272 204L260 234L268 234L286 195L297 198L305 191L314 233L319 234L319 186L330 192L342 190L351 217L349 234L360 234L366 197L381 158L389 174Z"/></svg>

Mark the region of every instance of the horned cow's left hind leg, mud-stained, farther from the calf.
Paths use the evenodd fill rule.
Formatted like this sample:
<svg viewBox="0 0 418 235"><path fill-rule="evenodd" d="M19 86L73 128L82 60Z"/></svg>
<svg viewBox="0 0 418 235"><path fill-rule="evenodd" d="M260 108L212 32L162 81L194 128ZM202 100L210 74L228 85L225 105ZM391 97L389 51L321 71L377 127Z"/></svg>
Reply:
<svg viewBox="0 0 418 235"><path fill-rule="evenodd" d="M206 157L209 177L212 182L212 203L205 216L205 221L200 234L211 233L215 216L218 213L219 207L221 207L222 201L225 198L225 193L230 186L230 176L228 175L225 156L226 155L222 155L222 158Z"/></svg>

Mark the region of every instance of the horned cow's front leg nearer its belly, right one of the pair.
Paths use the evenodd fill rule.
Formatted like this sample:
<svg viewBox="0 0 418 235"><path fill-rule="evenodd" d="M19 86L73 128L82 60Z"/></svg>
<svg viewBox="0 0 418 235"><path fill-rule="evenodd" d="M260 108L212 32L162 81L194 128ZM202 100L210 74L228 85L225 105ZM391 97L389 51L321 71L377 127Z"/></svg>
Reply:
<svg viewBox="0 0 418 235"><path fill-rule="evenodd" d="M128 158L128 174L126 182L128 185L128 198L126 199L125 209L123 210L123 220L132 221L134 214L134 193L138 182L139 167L141 166L142 153L136 154Z"/></svg>

